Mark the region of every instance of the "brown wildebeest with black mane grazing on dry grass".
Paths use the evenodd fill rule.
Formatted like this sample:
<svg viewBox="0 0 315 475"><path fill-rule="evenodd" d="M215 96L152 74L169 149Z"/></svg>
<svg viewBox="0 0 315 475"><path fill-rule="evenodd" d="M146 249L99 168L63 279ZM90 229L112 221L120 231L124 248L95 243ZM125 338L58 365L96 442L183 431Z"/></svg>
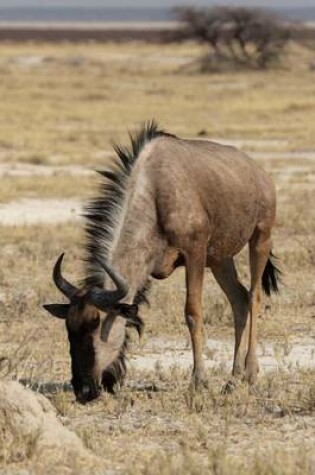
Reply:
<svg viewBox="0 0 315 475"><path fill-rule="evenodd" d="M205 267L232 306L233 375L255 383L261 289L277 291L270 242L276 194L270 177L234 147L180 139L154 122L131 136L130 150L115 150L118 159L102 172L100 196L86 210L84 282L76 288L62 276L61 255L53 279L70 303L45 305L65 319L76 398L87 402L102 386L113 391L123 380L127 327L142 330L138 304L145 299L148 279L164 279L178 266L186 271L192 385L198 387L204 379ZM240 283L233 262L247 243L250 290Z"/></svg>

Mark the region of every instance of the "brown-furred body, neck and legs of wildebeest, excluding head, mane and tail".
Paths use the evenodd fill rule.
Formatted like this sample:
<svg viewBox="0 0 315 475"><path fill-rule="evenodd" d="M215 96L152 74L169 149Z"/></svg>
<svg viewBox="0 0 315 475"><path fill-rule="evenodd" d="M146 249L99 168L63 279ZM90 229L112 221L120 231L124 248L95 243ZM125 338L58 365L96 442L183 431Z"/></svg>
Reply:
<svg viewBox="0 0 315 475"><path fill-rule="evenodd" d="M256 320L275 211L271 179L233 147L158 137L144 147L134 165L109 262L129 282L125 299L129 303L148 275L165 278L176 263L184 263L185 315L197 384L203 372L201 293L206 266L213 270L234 310L233 372L256 381ZM233 256L247 242L250 292L239 283L233 266Z"/></svg>

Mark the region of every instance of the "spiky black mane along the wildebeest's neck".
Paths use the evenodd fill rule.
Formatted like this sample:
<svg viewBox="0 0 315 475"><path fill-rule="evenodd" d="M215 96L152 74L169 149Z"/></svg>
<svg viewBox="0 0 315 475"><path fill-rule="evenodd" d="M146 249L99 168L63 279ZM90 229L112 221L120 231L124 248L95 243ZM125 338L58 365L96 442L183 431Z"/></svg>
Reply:
<svg viewBox="0 0 315 475"><path fill-rule="evenodd" d="M103 287L104 285L104 271L99 262L106 262L108 259L115 224L124 203L126 184L141 150L156 137L175 137L159 129L154 120L145 123L138 133L129 134L129 136L131 141L129 148L113 145L117 157L109 170L99 171L105 178L100 185L99 196L92 199L85 208L84 216L87 224L85 226L86 255L83 284L87 287ZM147 301L148 287L146 284L138 290L135 303Z"/></svg>

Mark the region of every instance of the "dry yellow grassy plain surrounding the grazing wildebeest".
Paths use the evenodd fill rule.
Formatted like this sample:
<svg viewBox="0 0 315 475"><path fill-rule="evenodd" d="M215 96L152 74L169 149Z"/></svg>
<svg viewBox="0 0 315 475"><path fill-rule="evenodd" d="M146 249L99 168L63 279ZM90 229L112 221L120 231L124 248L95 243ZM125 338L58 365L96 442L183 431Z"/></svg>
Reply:
<svg viewBox="0 0 315 475"><path fill-rule="evenodd" d="M234 140L253 155L278 189L274 249L285 284L265 302L260 341L274 345L279 360L296 339L314 343L311 50L292 44L281 69L220 75L196 73L195 44L2 44L0 51L0 165L106 167L111 140L126 142L128 129L151 118L181 136ZM0 184L2 203L30 196L85 199L95 178L3 176ZM104 459L108 473L315 473L314 369L279 369L263 374L257 388L241 384L232 395L222 395L226 365L209 371L210 389L201 394L188 391L189 371L163 368L165 342L189 345L181 271L153 286L151 307L143 309L144 339L140 348L133 343L137 355L156 341L154 371L131 364L126 386L115 397L103 395L85 407L74 403L62 386L70 379L65 330L41 305L60 301L51 268L63 250L67 276L79 281L82 242L80 223L1 227L4 375L41 384L61 420ZM238 267L248 283L246 252ZM205 338L230 341L229 306L210 274L204 309ZM205 353L212 359L210 350ZM30 464L21 460L11 467Z"/></svg>

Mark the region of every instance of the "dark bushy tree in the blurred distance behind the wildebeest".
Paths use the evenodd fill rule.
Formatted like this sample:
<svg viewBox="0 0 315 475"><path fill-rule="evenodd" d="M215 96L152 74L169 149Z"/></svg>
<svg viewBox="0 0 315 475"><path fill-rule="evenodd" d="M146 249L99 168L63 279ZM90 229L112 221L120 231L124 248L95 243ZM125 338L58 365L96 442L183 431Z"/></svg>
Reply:
<svg viewBox="0 0 315 475"><path fill-rule="evenodd" d="M218 67L220 60L266 68L281 59L289 27L269 12L243 7L179 8L177 39L208 44Z"/></svg>

